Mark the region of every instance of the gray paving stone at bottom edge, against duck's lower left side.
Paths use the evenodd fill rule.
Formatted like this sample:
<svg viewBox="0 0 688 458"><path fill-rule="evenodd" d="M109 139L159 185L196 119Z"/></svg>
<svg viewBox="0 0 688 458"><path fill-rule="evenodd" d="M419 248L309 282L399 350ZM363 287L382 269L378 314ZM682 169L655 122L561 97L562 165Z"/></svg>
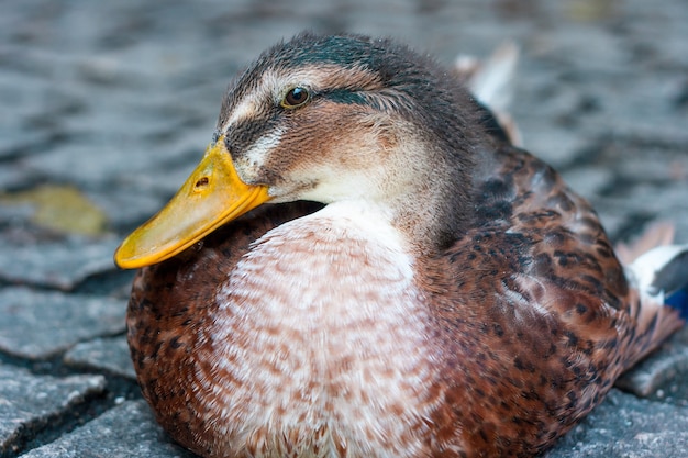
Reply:
<svg viewBox="0 0 688 458"><path fill-rule="evenodd" d="M24 458L191 458L173 444L143 401L126 401L98 418L35 448Z"/></svg>

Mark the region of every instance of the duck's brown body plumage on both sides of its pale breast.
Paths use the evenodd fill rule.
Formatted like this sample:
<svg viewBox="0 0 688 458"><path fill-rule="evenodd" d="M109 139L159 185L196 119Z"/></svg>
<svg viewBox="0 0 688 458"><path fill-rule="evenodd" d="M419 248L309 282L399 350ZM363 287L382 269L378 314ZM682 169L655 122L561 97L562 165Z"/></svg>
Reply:
<svg viewBox="0 0 688 458"><path fill-rule="evenodd" d="M431 292L426 328L442 375L429 392L440 406L423 456L531 456L679 322L662 319L670 312L658 308L640 319L637 292L596 214L552 168L503 147L475 185L474 224L417 276ZM137 276L127 317L132 357L145 398L181 444L221 456L203 448L214 425L193 402L197 366L210 364L195 356L217 345L206 331L218 284L256 238L321 206L258 209Z"/></svg>

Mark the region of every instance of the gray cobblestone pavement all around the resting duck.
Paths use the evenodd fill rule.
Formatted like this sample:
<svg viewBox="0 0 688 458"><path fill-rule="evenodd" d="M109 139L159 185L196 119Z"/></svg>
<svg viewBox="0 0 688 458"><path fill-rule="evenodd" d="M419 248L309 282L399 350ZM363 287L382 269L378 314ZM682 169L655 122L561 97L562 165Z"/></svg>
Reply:
<svg viewBox="0 0 688 458"><path fill-rule="evenodd" d="M614 239L688 242L688 3L87 0L0 4L0 457L186 457L124 342L120 238L182 182L229 79L303 29L391 35L451 64L514 40L531 150ZM547 458L688 456L688 332Z"/></svg>

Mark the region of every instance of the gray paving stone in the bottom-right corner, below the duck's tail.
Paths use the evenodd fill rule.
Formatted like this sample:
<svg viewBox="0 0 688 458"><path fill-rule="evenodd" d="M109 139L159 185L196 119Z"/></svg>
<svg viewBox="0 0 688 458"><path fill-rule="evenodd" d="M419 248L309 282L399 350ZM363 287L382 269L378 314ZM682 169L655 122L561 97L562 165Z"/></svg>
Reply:
<svg viewBox="0 0 688 458"><path fill-rule="evenodd" d="M543 458L685 458L688 407L612 390Z"/></svg>

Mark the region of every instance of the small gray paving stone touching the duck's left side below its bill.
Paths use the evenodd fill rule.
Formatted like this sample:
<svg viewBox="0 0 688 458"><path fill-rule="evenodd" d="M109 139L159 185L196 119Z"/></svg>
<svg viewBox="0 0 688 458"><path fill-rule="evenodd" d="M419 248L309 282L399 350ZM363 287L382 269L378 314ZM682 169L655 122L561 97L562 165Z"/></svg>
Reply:
<svg viewBox="0 0 688 458"><path fill-rule="evenodd" d="M65 354L65 364L76 368L102 370L136 380L125 336L97 338L77 344Z"/></svg>

